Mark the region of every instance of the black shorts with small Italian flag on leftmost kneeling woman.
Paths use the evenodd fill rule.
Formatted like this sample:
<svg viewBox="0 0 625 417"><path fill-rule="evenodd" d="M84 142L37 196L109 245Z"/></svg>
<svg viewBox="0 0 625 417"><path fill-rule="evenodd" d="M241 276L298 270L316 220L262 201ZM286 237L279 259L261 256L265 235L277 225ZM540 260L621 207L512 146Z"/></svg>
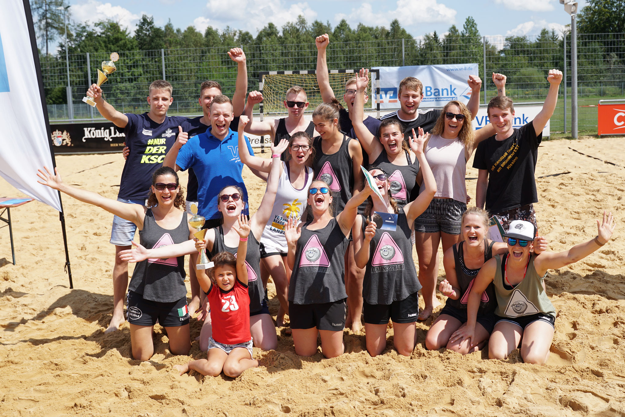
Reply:
<svg viewBox="0 0 625 417"><path fill-rule="evenodd" d="M137 326L154 326L158 319L163 327L178 327L189 324L187 296L171 303L159 303L144 299L142 294L128 290L128 323Z"/></svg>

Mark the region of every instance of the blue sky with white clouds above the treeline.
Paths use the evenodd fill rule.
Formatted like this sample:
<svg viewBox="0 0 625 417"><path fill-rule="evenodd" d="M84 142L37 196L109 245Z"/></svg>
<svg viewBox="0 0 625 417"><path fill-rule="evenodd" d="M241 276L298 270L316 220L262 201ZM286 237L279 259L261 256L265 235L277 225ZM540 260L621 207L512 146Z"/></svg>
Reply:
<svg viewBox="0 0 625 417"><path fill-rule="evenodd" d="M585 0L579 1L582 7ZM535 35L542 28L556 31L571 23L558 0L70 0L74 21L110 18L131 31L141 17L154 17L159 26L168 19L177 28L230 26L256 35L269 22L279 28L303 14L307 21L319 19L335 26L342 18L355 28L358 23L388 26L399 19L414 37L449 26L461 28L472 16L482 35Z"/></svg>

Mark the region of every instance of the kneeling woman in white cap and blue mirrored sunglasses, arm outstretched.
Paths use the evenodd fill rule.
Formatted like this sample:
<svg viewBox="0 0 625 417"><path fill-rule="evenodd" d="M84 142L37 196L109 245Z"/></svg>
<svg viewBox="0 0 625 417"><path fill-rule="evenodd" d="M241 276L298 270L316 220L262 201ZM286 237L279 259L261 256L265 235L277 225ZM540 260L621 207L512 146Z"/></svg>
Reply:
<svg viewBox="0 0 625 417"><path fill-rule="evenodd" d="M482 292L494 284L497 322L488 342L490 359L506 359L521 343L525 363L544 364L549 356L556 322L556 309L545 293L543 277L548 269L576 263L606 244L616 224L612 213L603 211L597 220L597 236L567 251L532 254L534 225L514 220L505 238L507 252L484 263L469 293L466 326L452 334L450 341L465 340L476 345L476 316Z"/></svg>

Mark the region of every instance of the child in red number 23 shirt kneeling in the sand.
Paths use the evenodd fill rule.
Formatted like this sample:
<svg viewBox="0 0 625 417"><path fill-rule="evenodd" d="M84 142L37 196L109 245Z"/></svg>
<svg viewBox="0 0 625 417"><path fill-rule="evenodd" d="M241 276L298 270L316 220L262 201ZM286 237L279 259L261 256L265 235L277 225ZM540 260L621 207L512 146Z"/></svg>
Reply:
<svg viewBox="0 0 625 417"><path fill-rule="evenodd" d="M207 359L174 366L181 375L194 369L202 375L218 376L223 369L224 374L236 378L246 369L259 364L252 359L252 336L249 333L245 254L250 230L249 221L241 214L237 255L242 256L235 258L231 253L220 252L212 258L214 266L208 271L213 283L197 277L202 290L208 288L206 296L211 305L212 337L209 339Z"/></svg>

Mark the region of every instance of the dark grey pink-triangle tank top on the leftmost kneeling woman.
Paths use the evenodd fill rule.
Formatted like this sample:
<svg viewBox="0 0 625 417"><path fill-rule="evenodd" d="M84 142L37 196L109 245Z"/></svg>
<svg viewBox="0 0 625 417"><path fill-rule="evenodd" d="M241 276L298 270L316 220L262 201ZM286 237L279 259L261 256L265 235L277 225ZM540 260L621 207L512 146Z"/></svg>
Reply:
<svg viewBox="0 0 625 417"><path fill-rule="evenodd" d="M143 230L139 231L139 243L148 249L160 248L169 244L183 243L189 240L189 224L183 214L180 224L175 229L164 229L156 224L152 209L146 211ZM172 303L187 294L184 285L184 256L167 259L146 259L134 268L133 278L128 289L143 294L143 299Z"/></svg>

